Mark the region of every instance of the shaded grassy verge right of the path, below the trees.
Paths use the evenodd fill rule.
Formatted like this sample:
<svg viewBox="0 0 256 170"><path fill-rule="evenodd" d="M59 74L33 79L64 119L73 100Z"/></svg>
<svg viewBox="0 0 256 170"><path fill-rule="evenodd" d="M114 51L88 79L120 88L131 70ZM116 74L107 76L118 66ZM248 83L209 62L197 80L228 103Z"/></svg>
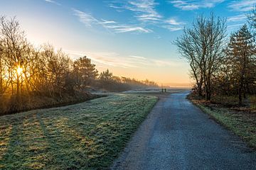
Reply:
<svg viewBox="0 0 256 170"><path fill-rule="evenodd" d="M193 101L202 111L210 115L221 125L242 138L247 145L256 149L256 113L234 111L223 106L209 106L206 103Z"/></svg>

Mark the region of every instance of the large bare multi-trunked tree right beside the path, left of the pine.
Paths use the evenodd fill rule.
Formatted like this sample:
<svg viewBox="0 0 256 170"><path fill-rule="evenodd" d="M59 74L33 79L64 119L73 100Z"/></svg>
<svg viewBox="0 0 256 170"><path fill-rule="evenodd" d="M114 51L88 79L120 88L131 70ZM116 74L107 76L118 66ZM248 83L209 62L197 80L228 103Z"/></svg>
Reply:
<svg viewBox="0 0 256 170"><path fill-rule="evenodd" d="M184 28L183 35L174 42L178 46L178 52L191 66L198 94L201 94L203 86L207 101L212 93L213 75L223 58L225 31L225 19L216 18L213 13L209 18L201 15L196 18L191 28Z"/></svg>

